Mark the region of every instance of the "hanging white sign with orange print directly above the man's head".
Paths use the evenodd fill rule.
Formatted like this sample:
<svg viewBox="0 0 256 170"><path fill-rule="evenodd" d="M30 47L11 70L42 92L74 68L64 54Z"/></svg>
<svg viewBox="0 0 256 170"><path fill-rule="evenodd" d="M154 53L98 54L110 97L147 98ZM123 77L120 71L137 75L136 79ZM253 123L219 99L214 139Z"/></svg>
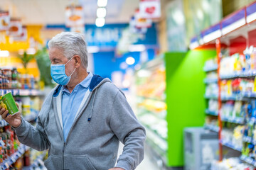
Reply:
<svg viewBox="0 0 256 170"><path fill-rule="evenodd" d="M85 18L82 6L68 6L65 9L65 26L84 26Z"/></svg>

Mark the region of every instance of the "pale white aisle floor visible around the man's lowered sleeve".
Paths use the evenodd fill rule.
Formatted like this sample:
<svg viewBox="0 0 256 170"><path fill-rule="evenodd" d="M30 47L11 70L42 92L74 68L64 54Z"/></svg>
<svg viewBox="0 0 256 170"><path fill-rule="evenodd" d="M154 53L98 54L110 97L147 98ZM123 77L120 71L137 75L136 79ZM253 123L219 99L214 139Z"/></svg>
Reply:
<svg viewBox="0 0 256 170"><path fill-rule="evenodd" d="M120 143L119 145L119 149L118 149L118 156L120 154L122 154L122 149L123 149L124 145L122 145L122 143ZM144 154L144 159L142 161L141 164L139 164L139 166L137 166L136 170L160 170L156 164L154 164L150 157L149 157L149 152L147 152L145 150L145 154Z"/></svg>

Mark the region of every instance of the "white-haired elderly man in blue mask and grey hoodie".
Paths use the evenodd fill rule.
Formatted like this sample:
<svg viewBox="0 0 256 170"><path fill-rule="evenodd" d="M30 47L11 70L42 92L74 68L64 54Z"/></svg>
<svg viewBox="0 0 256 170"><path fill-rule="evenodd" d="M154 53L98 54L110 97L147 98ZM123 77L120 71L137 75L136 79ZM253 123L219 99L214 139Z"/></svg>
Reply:
<svg viewBox="0 0 256 170"><path fill-rule="evenodd" d="M50 73L59 85L46 97L36 128L1 108L24 145L48 150L47 169L131 170L144 157L145 130L110 79L87 72L80 33L60 33L50 42ZM117 160L119 141L124 144ZM117 164L115 165L117 161Z"/></svg>

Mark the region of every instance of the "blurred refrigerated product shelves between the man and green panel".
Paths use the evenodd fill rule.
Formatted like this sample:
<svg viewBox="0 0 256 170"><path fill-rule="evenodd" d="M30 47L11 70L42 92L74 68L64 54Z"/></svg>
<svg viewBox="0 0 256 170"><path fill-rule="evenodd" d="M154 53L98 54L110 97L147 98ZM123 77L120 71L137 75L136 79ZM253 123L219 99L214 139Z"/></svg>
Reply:
<svg viewBox="0 0 256 170"><path fill-rule="evenodd" d="M146 128L146 142L166 161L166 81L163 61L137 72L137 118Z"/></svg>

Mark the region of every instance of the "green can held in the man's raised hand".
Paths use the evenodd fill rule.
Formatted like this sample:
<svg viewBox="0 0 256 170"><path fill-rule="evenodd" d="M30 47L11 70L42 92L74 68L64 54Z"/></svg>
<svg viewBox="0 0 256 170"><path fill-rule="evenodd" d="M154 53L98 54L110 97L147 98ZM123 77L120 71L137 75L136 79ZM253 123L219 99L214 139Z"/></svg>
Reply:
<svg viewBox="0 0 256 170"><path fill-rule="evenodd" d="M11 95L11 92L1 96L1 105L4 103L5 108L9 111L10 115L15 115L18 113L18 107L14 101L14 97Z"/></svg>

